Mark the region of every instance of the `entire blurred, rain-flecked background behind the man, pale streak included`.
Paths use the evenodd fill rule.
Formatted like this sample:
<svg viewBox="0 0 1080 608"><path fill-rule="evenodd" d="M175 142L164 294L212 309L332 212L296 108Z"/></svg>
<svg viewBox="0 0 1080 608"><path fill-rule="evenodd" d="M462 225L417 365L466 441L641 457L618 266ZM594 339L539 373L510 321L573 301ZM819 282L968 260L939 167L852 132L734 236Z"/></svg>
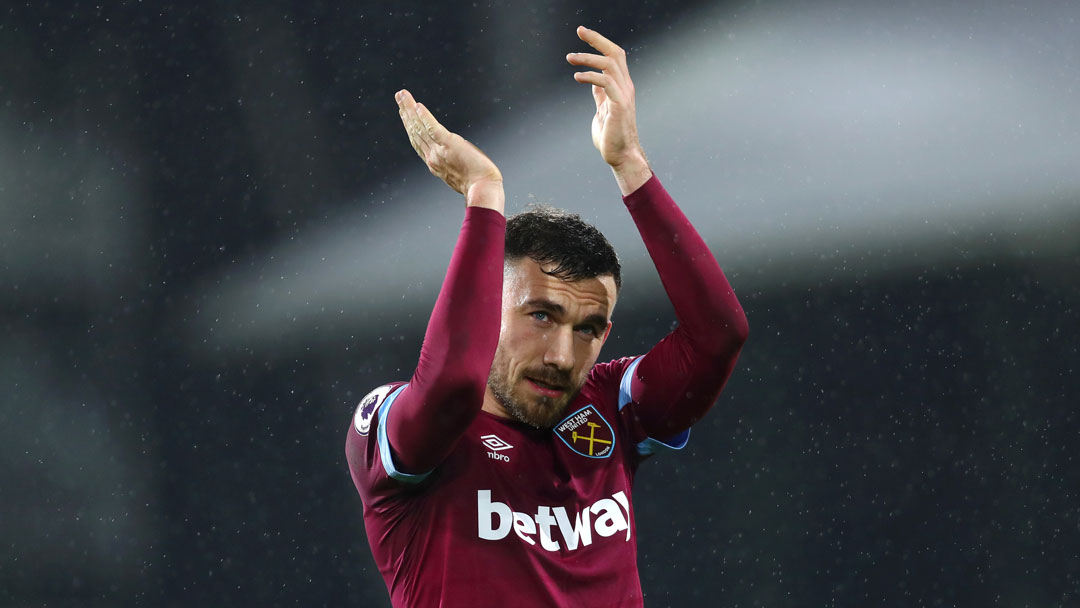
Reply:
<svg viewBox="0 0 1080 608"><path fill-rule="evenodd" d="M461 216L410 89L674 320L565 53L751 341L635 504L648 606L1080 604L1075 2L62 1L0 13L0 605L387 606L343 460ZM498 576L498 572L492 572ZM512 603L511 598L507 599Z"/></svg>

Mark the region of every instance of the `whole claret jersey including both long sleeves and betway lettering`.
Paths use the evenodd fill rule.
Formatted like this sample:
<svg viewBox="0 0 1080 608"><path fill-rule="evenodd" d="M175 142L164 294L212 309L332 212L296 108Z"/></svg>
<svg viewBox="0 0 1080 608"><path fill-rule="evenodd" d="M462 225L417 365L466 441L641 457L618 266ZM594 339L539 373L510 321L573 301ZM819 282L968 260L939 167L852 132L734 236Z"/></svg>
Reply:
<svg viewBox="0 0 1080 608"><path fill-rule="evenodd" d="M467 210L417 369L357 406L346 443L395 607L640 606L633 476L716 401L746 320L653 176L624 197L679 325L600 363L551 430L481 407L498 343L505 221Z"/></svg>

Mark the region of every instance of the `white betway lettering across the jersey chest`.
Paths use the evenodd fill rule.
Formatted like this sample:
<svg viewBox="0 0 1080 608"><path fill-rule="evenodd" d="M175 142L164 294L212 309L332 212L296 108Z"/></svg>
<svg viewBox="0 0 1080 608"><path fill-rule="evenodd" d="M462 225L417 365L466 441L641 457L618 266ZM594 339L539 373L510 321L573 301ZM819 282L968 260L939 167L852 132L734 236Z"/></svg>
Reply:
<svg viewBox="0 0 1080 608"><path fill-rule="evenodd" d="M626 541L630 541L630 501L622 491L597 500L571 519L565 506L538 506L530 515L491 500L491 490L476 490L476 514L480 538L484 540L504 539L513 529L525 542L536 544L539 540L540 546L548 551L589 546L594 532L598 537L611 537L625 531Z"/></svg>

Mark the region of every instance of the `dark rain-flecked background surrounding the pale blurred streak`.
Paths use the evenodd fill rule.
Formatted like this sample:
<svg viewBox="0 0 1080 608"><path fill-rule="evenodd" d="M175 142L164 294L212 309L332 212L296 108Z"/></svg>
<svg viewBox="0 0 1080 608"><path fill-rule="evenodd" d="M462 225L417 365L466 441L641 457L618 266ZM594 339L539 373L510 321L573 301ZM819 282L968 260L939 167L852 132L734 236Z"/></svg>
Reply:
<svg viewBox="0 0 1080 608"><path fill-rule="evenodd" d="M484 132L569 78L579 23L633 45L699 4L2 9L0 605L388 605L343 437L423 319L200 350L192 311L419 162L399 89ZM987 239L852 254L903 271L721 257L751 339L638 477L647 605L1080 603L1080 245ZM673 319L620 302L605 356Z"/></svg>

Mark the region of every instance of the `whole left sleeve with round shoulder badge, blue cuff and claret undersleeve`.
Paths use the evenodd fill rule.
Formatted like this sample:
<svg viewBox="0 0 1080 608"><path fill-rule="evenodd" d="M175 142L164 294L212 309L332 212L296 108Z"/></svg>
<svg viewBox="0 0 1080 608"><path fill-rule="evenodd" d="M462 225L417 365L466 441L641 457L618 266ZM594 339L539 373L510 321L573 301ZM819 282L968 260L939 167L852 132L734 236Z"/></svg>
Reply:
<svg viewBox="0 0 1080 608"><path fill-rule="evenodd" d="M465 210L413 377L357 407L346 449L362 495L362 483L422 482L480 413L499 340L505 224L499 212Z"/></svg>

